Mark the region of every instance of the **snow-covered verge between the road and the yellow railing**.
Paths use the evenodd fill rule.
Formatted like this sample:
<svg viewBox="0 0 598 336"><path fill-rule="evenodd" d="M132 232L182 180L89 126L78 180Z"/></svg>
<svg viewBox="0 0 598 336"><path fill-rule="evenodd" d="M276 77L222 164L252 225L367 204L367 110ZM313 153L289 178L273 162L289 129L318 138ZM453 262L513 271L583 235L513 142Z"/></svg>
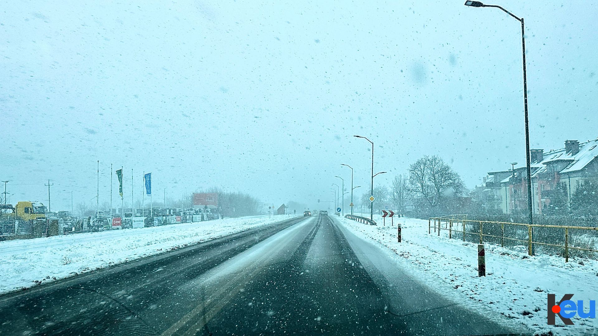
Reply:
<svg viewBox="0 0 598 336"><path fill-rule="evenodd" d="M598 319L573 318L565 326L547 324L547 294L573 294L572 300L598 298L598 262L557 256L528 256L500 246L486 245L486 277L477 277L477 245L428 234L428 221L396 218L395 227L370 226L338 218L350 231L373 242L396 260L402 270L428 284L450 300L521 323L536 334L595 335ZM402 243L396 241L396 223L401 222Z"/></svg>

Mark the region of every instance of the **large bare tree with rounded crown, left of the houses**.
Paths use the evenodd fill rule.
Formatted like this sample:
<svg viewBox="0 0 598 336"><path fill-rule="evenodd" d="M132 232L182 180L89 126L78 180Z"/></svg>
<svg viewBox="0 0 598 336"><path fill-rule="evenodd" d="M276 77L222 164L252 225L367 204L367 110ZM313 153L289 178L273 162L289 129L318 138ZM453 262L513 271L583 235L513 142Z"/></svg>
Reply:
<svg viewBox="0 0 598 336"><path fill-rule="evenodd" d="M437 155L425 155L409 166L409 185L414 194L431 206L437 205L449 188L456 195L463 189L459 174Z"/></svg>

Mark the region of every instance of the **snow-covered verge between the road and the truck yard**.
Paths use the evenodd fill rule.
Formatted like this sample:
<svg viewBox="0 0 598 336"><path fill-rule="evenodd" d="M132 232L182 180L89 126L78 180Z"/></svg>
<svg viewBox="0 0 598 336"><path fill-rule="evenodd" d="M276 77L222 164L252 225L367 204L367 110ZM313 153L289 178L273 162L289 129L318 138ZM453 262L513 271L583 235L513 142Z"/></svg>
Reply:
<svg viewBox="0 0 598 336"><path fill-rule="evenodd" d="M289 216L250 216L0 242L0 294L228 236Z"/></svg>

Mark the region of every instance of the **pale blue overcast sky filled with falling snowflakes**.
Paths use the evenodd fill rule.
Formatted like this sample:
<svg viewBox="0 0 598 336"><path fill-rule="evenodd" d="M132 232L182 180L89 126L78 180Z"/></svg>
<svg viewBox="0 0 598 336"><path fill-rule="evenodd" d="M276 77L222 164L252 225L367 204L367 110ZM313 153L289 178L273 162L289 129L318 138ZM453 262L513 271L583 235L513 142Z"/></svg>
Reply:
<svg viewBox="0 0 598 336"><path fill-rule="evenodd" d="M0 179L52 209L219 186L314 206L438 154L468 187L524 163L521 28L457 1L2 1ZM532 148L598 136L598 5L496 2L526 22ZM521 166L520 164L520 166ZM114 175L114 203L117 185ZM361 192L368 188L360 188ZM356 190L358 191L358 190ZM348 201L347 201L348 203Z"/></svg>

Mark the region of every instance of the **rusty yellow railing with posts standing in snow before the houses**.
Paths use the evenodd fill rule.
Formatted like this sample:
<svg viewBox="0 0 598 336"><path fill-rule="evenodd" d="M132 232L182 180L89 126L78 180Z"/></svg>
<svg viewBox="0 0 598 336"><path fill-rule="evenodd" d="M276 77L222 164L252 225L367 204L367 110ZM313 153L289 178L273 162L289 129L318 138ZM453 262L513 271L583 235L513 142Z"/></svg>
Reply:
<svg viewBox="0 0 598 336"><path fill-rule="evenodd" d="M465 242L466 236L469 234L471 236L479 237L480 244L484 243L484 237L490 238L490 240L493 240L494 243L498 243L498 241L500 241L501 247L505 246L505 240L507 240L507 242L527 243L527 253L529 255L533 255L534 245L550 246L557 249L562 248L564 251L565 262L569 262L570 249L576 251L598 252L598 249L596 249L596 245L598 245L598 227L542 224L530 225L512 222L473 221L471 219L466 219L466 216L467 215L450 215L443 217L431 217L428 219L428 234L431 234L431 230L434 228L434 233L436 233L438 230L438 236L440 236L440 230L446 230L449 231L449 239L453 239L453 236L456 236L462 238L463 242ZM432 221L434 221L433 225ZM505 228L507 229L507 233L511 234L511 237L509 237L508 234L505 236ZM544 237L544 239L551 240L551 242L535 241L534 237L538 237L538 232L535 234L534 231L539 230L545 230L541 232L541 239ZM559 233L560 230L563 230L562 233ZM581 231L581 234L576 232L575 236L573 237L573 241L578 242L578 245L584 244L584 248L572 246L570 244L570 230ZM590 235L592 233L594 236ZM561 236L561 234L563 236ZM560 240L560 237L563 238L563 245L560 245L558 242L554 242L554 240ZM593 253L590 254L593 255Z"/></svg>

